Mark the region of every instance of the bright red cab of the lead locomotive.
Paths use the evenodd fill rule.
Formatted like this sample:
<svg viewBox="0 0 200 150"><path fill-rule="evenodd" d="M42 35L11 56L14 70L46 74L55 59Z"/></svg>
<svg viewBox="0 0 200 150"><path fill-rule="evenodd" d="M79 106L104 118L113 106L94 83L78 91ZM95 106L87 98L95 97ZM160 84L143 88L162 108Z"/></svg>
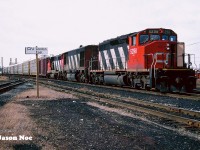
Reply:
<svg viewBox="0 0 200 150"><path fill-rule="evenodd" d="M172 30L147 29L129 37L129 61L132 69L175 68L177 65L177 35ZM179 61L181 60L178 56Z"/></svg>

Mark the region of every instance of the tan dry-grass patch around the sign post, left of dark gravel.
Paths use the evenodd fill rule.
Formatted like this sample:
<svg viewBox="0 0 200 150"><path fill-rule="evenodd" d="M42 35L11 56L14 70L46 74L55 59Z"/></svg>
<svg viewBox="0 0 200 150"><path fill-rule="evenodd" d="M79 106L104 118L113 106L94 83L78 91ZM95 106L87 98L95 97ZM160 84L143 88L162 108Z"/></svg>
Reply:
<svg viewBox="0 0 200 150"><path fill-rule="evenodd" d="M42 132L42 129L40 129L30 117L31 114L29 108L19 102L29 101L32 99L48 101L61 98L74 98L74 96L49 90L44 87L40 87L40 98L36 98L35 89L17 95L11 102L0 108L0 135L17 137L19 137L19 135L25 135L27 137L32 137L32 139L36 139L38 134ZM0 140L0 150L18 148L40 149L40 146L36 146L34 142L35 140ZM42 148L53 149L53 147L48 143L43 145Z"/></svg>

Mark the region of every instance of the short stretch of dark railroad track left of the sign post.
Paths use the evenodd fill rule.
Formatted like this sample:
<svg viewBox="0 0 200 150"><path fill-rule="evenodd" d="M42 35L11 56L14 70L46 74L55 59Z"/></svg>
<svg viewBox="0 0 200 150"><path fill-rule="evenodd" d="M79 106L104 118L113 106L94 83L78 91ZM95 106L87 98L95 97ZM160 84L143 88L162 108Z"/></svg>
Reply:
<svg viewBox="0 0 200 150"><path fill-rule="evenodd" d="M2 84L0 84L0 94L9 91L9 90L11 90L12 88L14 88L15 86L18 86L18 85L20 85L20 84L23 84L24 82L25 82L25 81L14 80L14 81L2 83Z"/></svg>

